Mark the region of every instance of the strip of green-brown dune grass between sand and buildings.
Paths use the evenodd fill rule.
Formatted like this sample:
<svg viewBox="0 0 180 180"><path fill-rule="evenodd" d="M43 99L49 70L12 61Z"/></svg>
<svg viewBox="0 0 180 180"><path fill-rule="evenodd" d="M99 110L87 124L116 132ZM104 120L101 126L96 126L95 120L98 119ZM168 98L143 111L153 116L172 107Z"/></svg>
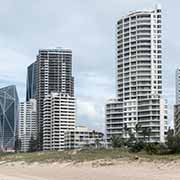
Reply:
<svg viewBox="0 0 180 180"><path fill-rule="evenodd" d="M0 153L1 162L16 162L24 161L26 163L47 163L47 162L85 162L94 160L164 160L174 161L180 160L180 154L172 155L148 155L145 152L130 153L124 149L84 149L80 151L47 151L47 152L33 152L33 153Z"/></svg>

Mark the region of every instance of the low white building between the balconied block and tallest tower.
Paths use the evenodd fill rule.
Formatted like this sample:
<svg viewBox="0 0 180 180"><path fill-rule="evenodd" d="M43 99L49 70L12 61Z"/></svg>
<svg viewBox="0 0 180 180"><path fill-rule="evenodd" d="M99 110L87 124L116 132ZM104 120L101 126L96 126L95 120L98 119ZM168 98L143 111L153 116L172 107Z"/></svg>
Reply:
<svg viewBox="0 0 180 180"><path fill-rule="evenodd" d="M78 126L74 130L65 132L65 149L81 149L86 146L104 147L104 134L85 126Z"/></svg>

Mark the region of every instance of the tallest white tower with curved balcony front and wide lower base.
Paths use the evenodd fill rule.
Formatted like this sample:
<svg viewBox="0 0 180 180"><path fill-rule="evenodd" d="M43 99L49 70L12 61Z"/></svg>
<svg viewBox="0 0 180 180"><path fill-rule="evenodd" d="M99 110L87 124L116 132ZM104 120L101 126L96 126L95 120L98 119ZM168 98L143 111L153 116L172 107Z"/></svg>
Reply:
<svg viewBox="0 0 180 180"><path fill-rule="evenodd" d="M126 138L136 124L164 142L167 105L162 98L161 8L130 12L117 22L117 98L106 104L107 140ZM140 135L140 138L142 135Z"/></svg>

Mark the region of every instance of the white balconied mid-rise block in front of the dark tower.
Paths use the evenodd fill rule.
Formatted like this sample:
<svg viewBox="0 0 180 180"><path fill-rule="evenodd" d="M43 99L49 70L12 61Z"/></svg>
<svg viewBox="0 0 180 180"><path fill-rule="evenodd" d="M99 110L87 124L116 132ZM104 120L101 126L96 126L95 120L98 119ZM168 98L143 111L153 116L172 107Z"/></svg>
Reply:
<svg viewBox="0 0 180 180"><path fill-rule="evenodd" d="M43 150L64 149L64 133L75 128L75 97L51 93L43 106Z"/></svg>

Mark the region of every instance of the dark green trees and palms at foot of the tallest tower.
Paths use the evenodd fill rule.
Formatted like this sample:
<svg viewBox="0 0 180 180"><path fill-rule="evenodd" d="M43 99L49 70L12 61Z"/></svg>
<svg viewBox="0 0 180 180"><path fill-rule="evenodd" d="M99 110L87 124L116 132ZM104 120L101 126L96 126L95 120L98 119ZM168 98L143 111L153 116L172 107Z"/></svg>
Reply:
<svg viewBox="0 0 180 180"><path fill-rule="evenodd" d="M124 135L113 135L110 140L112 148L125 148L130 152L145 151L148 154L174 154L180 153L180 135L173 129L168 129L164 143L151 142L152 129L136 124L134 129L125 125Z"/></svg>

